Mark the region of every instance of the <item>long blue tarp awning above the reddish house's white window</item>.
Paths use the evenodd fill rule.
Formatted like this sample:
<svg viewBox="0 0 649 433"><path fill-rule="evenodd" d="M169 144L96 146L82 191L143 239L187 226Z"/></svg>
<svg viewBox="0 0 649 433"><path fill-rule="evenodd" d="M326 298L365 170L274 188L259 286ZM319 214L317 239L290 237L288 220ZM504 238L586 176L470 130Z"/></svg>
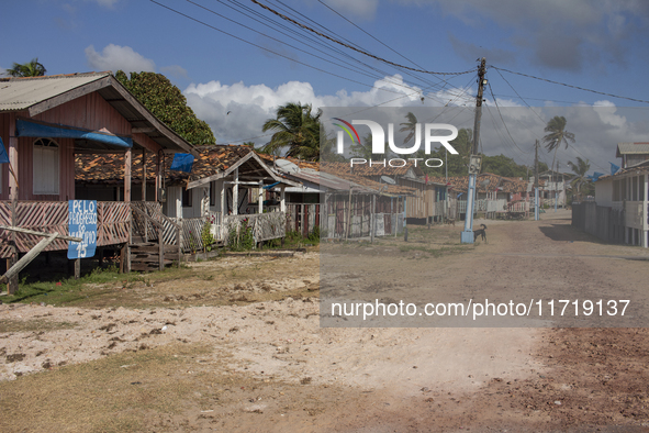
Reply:
<svg viewBox="0 0 649 433"><path fill-rule="evenodd" d="M52 125L18 119L15 121L15 130L18 136L48 138L85 138L91 140L93 142L111 144L113 146L133 147L133 138L131 137L81 130L68 125Z"/></svg>

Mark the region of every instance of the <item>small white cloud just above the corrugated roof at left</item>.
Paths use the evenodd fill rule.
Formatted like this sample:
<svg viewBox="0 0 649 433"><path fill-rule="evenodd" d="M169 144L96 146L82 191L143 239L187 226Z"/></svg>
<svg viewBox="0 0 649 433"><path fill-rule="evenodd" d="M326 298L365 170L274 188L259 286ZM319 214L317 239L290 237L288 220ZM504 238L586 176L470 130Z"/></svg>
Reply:
<svg viewBox="0 0 649 433"><path fill-rule="evenodd" d="M86 48L86 58L93 70L122 69L125 73L155 73L156 70L154 60L145 58L130 46L109 44L98 53L94 46L90 45Z"/></svg>

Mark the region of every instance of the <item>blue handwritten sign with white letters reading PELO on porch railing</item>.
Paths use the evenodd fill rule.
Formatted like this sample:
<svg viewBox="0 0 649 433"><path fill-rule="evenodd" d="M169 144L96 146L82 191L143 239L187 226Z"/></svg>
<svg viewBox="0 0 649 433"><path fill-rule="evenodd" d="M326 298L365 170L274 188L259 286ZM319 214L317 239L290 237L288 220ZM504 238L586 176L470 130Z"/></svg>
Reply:
<svg viewBox="0 0 649 433"><path fill-rule="evenodd" d="M68 231L82 242L70 242L68 258L94 256L97 248L97 200L68 201Z"/></svg>

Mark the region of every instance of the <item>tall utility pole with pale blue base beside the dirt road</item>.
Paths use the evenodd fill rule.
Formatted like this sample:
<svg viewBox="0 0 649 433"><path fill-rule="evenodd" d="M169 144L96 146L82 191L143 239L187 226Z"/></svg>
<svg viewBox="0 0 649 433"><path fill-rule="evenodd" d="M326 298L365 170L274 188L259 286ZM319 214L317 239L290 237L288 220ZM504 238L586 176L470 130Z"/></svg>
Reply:
<svg viewBox="0 0 649 433"><path fill-rule="evenodd" d="M481 157L478 156L480 143L480 121L482 119L482 96L484 93L484 74L486 73L486 59L482 57L478 68L478 96L475 97L475 120L473 122L473 145L469 156L469 189L467 191L467 214L465 216L465 231L460 234L462 244L472 244L473 241L473 209L475 203L475 178L480 174Z"/></svg>

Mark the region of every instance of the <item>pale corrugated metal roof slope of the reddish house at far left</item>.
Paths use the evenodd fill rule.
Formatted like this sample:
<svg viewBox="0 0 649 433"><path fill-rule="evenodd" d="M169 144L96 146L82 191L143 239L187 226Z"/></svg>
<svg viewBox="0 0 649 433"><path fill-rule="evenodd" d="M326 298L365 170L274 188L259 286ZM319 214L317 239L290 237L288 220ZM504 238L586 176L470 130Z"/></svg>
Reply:
<svg viewBox="0 0 649 433"><path fill-rule="evenodd" d="M25 110L77 87L105 78L110 73L54 75L0 79L0 111Z"/></svg>

